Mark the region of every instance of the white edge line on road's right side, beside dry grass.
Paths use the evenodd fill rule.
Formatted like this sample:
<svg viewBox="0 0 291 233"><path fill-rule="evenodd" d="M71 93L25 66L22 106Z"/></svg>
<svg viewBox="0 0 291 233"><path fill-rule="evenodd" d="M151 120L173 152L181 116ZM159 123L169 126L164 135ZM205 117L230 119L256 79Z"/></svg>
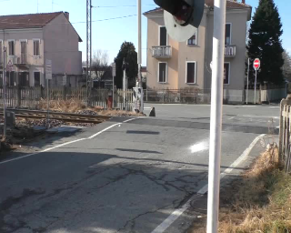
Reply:
<svg viewBox="0 0 291 233"><path fill-rule="evenodd" d="M257 141L261 137L265 137L265 136L266 135L260 135L260 136L256 137L255 140L249 145L249 147L246 148L246 150L244 151L244 153L240 157L238 157L236 159L236 161L230 167L228 167L223 173L220 174L220 178L226 177L226 175L229 174L229 173L231 173L235 167L237 167L241 162L243 162L244 160L246 160L246 157L248 157L248 155L251 152L251 150L253 149L253 147L255 147ZM205 195L207 191L208 191L208 185L206 185L205 187L202 187L198 191L197 194ZM156 229L154 229L152 231L152 233L164 233L166 231L166 229L169 228L176 221L176 219L179 218L186 211L186 209L190 207L190 204L191 204L191 202L192 202L192 200L194 198L196 198L196 197L193 196L192 198L190 198L186 202L186 204L183 205L182 208L176 209Z"/></svg>

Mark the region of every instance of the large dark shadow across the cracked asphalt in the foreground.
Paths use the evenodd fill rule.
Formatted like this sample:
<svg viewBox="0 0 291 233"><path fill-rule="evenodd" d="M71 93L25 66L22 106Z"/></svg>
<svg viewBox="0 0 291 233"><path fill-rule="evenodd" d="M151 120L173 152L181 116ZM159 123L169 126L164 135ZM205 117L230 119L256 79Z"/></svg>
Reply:
<svg viewBox="0 0 291 233"><path fill-rule="evenodd" d="M52 151L0 166L3 233L152 232L207 182L206 165L115 153Z"/></svg>

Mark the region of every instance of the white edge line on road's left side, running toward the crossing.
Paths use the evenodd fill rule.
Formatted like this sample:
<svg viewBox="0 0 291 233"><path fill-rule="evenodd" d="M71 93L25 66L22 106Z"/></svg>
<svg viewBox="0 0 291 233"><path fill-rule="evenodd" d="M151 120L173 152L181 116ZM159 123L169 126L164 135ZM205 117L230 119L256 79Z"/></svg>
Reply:
<svg viewBox="0 0 291 233"><path fill-rule="evenodd" d="M135 120L136 118L131 118L131 119L128 119L128 120L125 120L124 123L126 122L129 122L129 121L132 121L132 120ZM48 152L48 151L51 151L53 149L56 149L56 148L59 148L59 147L65 147L67 145L70 145L70 144L73 144L75 142L80 142L80 141L84 141L84 140L90 140L90 139L93 139L94 137L97 137L98 135L101 135L102 133L104 133L105 131L107 131L108 129L112 128L112 127L117 127L117 126L121 126L123 123L117 123L115 125L112 125L110 127L106 127L105 129L101 130L100 132L96 133L95 135L91 136L91 137L87 137L87 138L80 138L80 139L76 139L74 141L70 141L70 142L65 142L63 144L60 144L60 145L57 145L55 147L49 147L49 148L46 148L42 151L39 151L39 152L36 152L36 153L33 153L33 154L29 154L29 155L26 155L26 156L23 156L23 157L15 157L15 158L12 158L12 159L9 159L9 160L5 160L3 162L0 162L0 165L2 164L5 164L5 163L9 163L9 162L13 162L15 160L19 160L19 159L23 159L25 157L32 157L32 156L36 156L36 155L39 155L39 154L42 154L42 153L45 153L45 152Z"/></svg>

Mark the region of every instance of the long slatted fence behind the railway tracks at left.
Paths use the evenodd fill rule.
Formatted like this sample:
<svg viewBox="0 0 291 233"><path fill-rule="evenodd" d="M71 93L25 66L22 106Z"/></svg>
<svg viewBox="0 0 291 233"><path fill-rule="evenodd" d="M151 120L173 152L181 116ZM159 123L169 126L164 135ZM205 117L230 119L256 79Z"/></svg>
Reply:
<svg viewBox="0 0 291 233"><path fill-rule="evenodd" d="M125 93L125 95L124 95ZM48 89L48 96L50 100L70 100L77 99L84 103L87 102L89 106L102 106L107 108L107 101L112 95L107 89L90 88L88 90L88 97L86 97L85 88L77 87L50 87ZM0 107L3 107L3 88L0 87ZM35 109L40 101L47 99L47 90L44 87L19 87L12 86L6 88L7 107L25 107ZM125 96L125 103L124 103ZM115 107L119 109L132 110L133 90L121 89L115 91Z"/></svg>

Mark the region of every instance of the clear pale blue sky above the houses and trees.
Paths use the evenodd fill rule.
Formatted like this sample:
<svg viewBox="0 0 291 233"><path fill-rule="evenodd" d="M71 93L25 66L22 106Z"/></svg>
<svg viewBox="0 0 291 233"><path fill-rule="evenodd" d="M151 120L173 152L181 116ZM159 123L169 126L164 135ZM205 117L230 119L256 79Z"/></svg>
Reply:
<svg viewBox="0 0 291 233"><path fill-rule="evenodd" d="M246 0L246 4L256 10L259 0ZM124 41L133 42L137 49L137 17L136 0L92 0L95 6L92 12L93 21L93 51L107 51L109 63L114 61L120 46ZM38 4L37 4L38 3ZM275 0L281 16L283 31L281 39L283 47L291 53L291 0ZM114 7L105 7L114 6ZM142 11L155 8L153 0L142 0ZM70 21L83 39L79 49L85 60L86 51L86 0L0 0L0 15L34 14L66 11L70 13ZM125 18L112 19L115 17ZM107 20L109 19L109 20ZM143 66L146 66L146 17L143 15Z"/></svg>

